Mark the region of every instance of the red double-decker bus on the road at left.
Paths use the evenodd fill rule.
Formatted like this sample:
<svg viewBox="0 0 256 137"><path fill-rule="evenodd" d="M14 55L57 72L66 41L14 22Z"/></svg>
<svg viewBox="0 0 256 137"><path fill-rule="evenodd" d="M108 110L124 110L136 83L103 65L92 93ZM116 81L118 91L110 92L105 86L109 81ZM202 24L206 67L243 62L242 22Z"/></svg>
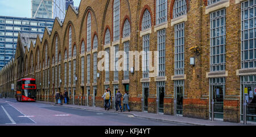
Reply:
<svg viewBox="0 0 256 137"><path fill-rule="evenodd" d="M16 87L17 101L36 101L36 81L32 78L20 79Z"/></svg>

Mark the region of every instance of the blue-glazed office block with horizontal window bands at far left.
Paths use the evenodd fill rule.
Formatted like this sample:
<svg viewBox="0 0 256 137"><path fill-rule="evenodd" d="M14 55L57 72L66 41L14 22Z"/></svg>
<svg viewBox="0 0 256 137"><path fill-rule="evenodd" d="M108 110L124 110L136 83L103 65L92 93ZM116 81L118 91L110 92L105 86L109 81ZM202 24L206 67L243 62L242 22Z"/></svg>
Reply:
<svg viewBox="0 0 256 137"><path fill-rule="evenodd" d="M53 19L30 19L0 16L0 70L15 55L18 33L43 35L53 27Z"/></svg>

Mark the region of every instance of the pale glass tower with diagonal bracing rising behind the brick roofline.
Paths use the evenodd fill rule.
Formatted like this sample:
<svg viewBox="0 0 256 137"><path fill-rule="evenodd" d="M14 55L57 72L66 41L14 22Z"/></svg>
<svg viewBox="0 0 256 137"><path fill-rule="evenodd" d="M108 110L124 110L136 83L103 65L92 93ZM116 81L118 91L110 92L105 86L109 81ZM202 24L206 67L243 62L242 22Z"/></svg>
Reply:
<svg viewBox="0 0 256 137"><path fill-rule="evenodd" d="M65 18L65 0L32 0L32 18Z"/></svg>

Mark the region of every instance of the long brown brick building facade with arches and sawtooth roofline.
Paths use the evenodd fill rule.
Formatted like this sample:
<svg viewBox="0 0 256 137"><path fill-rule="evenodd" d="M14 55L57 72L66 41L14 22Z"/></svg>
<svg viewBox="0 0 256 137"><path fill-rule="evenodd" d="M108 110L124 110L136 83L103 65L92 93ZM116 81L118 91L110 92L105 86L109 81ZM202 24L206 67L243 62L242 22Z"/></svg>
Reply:
<svg viewBox="0 0 256 137"><path fill-rule="evenodd" d="M213 101L214 117L240 122L243 100L253 104L256 95L255 8L249 0L81 1L30 49L22 50L19 36L14 61L0 72L0 92L32 77L38 100L53 101L56 91L67 90L71 104L103 107L110 87L113 98L116 89L129 91L131 110L210 119ZM148 53L125 57L123 65L135 71L112 71L117 51L159 54L152 64ZM103 57L106 69L96 70Z"/></svg>

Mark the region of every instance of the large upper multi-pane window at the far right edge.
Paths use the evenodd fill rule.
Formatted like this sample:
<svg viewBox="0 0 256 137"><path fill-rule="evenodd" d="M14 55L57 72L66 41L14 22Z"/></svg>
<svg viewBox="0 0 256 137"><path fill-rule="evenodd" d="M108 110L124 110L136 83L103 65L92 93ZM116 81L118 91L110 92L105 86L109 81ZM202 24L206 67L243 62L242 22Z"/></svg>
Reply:
<svg viewBox="0 0 256 137"><path fill-rule="evenodd" d="M241 66L256 67L256 2L242 2L241 7Z"/></svg>

